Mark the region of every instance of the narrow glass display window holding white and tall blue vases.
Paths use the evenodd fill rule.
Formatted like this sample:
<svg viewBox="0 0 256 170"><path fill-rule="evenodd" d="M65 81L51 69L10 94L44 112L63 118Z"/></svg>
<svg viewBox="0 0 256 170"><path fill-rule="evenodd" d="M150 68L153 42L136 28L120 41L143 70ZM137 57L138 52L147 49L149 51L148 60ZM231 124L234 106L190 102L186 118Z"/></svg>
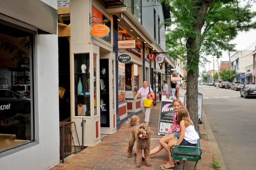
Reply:
<svg viewBox="0 0 256 170"><path fill-rule="evenodd" d="M93 72L94 72L94 68L93 68ZM91 116L90 54L89 53L74 54L74 82L75 82L74 84L75 116Z"/></svg>

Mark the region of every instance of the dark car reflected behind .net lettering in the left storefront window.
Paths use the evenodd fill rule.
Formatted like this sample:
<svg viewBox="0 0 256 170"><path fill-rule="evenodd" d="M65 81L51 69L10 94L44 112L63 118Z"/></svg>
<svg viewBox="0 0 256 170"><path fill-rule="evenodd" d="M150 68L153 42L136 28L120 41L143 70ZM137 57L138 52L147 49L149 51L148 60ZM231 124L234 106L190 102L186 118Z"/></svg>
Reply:
<svg viewBox="0 0 256 170"><path fill-rule="evenodd" d="M30 113L30 101L10 90L0 89L0 103L5 117L12 117L16 113Z"/></svg>

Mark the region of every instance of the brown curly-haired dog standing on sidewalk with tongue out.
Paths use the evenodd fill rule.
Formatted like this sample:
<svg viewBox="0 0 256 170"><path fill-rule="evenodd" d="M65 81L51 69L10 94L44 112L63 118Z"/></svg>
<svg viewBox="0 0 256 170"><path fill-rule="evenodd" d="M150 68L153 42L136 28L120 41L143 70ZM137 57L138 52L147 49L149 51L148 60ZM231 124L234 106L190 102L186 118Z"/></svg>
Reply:
<svg viewBox="0 0 256 170"><path fill-rule="evenodd" d="M136 167L140 168L142 165L142 150L144 150L145 155L145 165L151 166L150 163L150 138L151 138L151 130L146 123L141 123L139 116L132 116L128 121L127 124L130 125L131 131L130 131L130 138L129 138L129 146L128 146L128 152L127 157L132 157L132 148L134 145L134 142L136 140L137 148L137 159L136 159Z"/></svg>

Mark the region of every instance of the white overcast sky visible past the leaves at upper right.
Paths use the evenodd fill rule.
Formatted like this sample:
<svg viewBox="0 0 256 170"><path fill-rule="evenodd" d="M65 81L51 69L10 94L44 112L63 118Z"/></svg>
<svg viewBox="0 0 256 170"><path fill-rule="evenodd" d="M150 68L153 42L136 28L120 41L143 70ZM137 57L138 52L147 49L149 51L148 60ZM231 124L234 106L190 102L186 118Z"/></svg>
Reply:
<svg viewBox="0 0 256 170"><path fill-rule="evenodd" d="M241 4L244 5L244 4L246 4L246 2L241 1ZM253 3L252 11L256 11L256 3ZM255 18L255 20L256 20L256 18ZM236 43L236 50L237 51L243 50L247 47L250 47L251 45L252 45L252 47L249 48L248 50L255 49L255 46L256 46L256 30L251 30L250 32L247 32L247 33L240 32L239 35L236 37L236 39L234 41L232 41L231 43ZM234 53L231 53L230 56L232 56L233 54ZM212 62L212 63L210 63L210 70L213 70L213 58L211 58L211 57L212 56L207 56L207 59ZM216 60L216 58L214 58L214 60ZM222 53L222 58L219 59L219 64L220 64L220 60L229 61L228 52L223 52ZM215 66L214 67L215 70L218 70L218 62L215 62L214 66ZM204 68L200 68L200 71L202 71L203 69ZM209 70L209 63L206 64L205 69L207 71Z"/></svg>

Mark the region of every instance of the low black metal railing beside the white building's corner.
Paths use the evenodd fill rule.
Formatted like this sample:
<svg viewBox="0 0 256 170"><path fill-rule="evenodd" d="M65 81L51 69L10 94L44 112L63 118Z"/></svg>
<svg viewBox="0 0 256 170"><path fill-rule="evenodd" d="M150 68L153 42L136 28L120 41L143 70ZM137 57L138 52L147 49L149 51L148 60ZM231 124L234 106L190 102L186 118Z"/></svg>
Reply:
<svg viewBox="0 0 256 170"><path fill-rule="evenodd" d="M75 143L74 142L74 136L72 134L72 131L71 131L71 126L72 124L74 124L74 127L75 127L75 130L76 130L76 123L75 122L70 122L70 123L67 123L67 124L64 124L62 126L60 126L60 134L61 134L61 138L60 138L60 157L62 159L62 163L64 163L64 158L67 157L68 155L71 155L73 153L77 153L77 152L80 152L82 151L82 147L80 146L80 142L79 142L79 138L78 138L78 134L77 134L77 130L76 130L76 137L77 137L77 141L78 141L78 144L79 144L79 150L76 151L76 147L74 145L74 150L75 152L72 152L72 145L71 145L71 140L73 141L73 144ZM67 130L69 129L69 130ZM69 142L70 140L70 142ZM65 141L67 141L67 144L65 143ZM65 154L64 154L65 152Z"/></svg>

